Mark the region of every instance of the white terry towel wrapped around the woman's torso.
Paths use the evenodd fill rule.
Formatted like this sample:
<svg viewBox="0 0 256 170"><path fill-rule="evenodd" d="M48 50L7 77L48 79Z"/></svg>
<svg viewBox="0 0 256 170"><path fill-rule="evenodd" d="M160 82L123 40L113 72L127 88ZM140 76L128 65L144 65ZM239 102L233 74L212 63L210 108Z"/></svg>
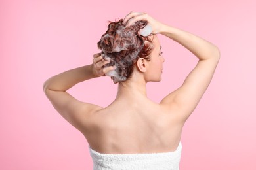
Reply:
<svg viewBox="0 0 256 170"><path fill-rule="evenodd" d="M173 152L152 154L102 154L89 148L93 170L179 170L181 142Z"/></svg>

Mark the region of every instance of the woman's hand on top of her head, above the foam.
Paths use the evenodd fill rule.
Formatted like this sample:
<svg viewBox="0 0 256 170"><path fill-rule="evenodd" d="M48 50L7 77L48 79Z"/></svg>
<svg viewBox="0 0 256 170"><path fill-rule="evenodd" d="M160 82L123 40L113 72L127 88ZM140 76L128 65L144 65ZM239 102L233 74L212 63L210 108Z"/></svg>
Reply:
<svg viewBox="0 0 256 170"><path fill-rule="evenodd" d="M163 23L158 22L158 20L155 20L150 15L146 13L140 13L140 12L130 12L125 16L123 19L123 24L126 24L126 26L132 25L137 21L140 20L146 20L148 21L148 25L152 27L152 34L157 34L161 32L161 27L163 27Z"/></svg>

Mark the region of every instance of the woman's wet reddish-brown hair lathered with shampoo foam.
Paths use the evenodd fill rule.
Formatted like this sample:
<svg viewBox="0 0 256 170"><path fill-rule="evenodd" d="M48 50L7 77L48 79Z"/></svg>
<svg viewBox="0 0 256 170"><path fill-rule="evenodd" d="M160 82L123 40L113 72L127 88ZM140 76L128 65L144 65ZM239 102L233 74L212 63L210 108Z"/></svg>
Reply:
<svg viewBox="0 0 256 170"><path fill-rule="evenodd" d="M133 67L139 58L150 61L152 52L152 36L139 35L140 29L148 24L146 21L137 21L126 27L123 20L110 22L108 30L98 42L98 48L105 60L110 59L108 66L116 66L106 76L112 76L114 83L125 81L133 73Z"/></svg>

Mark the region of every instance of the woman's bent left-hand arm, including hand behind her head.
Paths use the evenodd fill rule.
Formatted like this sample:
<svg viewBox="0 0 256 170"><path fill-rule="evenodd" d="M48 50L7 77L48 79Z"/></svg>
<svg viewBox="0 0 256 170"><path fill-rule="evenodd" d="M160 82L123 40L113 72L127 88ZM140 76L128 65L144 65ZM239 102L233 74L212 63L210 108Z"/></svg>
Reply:
<svg viewBox="0 0 256 170"><path fill-rule="evenodd" d="M101 107L78 101L66 90L79 82L102 76L112 70L113 67L102 68L108 62L102 60L100 54L95 54L93 64L65 71L49 78L43 84L43 90L54 108L77 129L82 129L87 116Z"/></svg>

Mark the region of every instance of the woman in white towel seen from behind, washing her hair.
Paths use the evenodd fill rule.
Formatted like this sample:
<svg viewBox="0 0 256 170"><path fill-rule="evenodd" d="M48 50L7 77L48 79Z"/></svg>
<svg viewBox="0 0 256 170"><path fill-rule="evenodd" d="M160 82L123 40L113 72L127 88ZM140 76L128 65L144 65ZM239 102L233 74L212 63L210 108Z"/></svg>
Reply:
<svg viewBox="0 0 256 170"><path fill-rule="evenodd" d="M148 29L151 33L145 35ZM146 83L161 80L165 61L157 34L198 58L182 86L160 103L146 95ZM179 169L182 127L211 82L219 49L139 12L110 23L98 48L102 52L93 56L92 64L53 76L43 87L54 108L85 135L94 169ZM106 108L77 101L66 92L104 75L118 83L116 99Z"/></svg>

